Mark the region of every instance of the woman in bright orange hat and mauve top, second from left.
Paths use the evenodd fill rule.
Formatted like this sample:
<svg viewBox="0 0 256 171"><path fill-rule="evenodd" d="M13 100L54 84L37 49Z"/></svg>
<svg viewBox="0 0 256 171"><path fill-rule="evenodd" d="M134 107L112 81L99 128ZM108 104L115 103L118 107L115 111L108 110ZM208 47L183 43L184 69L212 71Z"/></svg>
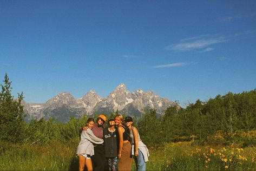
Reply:
<svg viewBox="0 0 256 171"><path fill-rule="evenodd" d="M103 124L107 121L107 117L105 115L100 114L97 119L96 123L94 123L93 134L103 140ZM88 129L88 127L83 127L83 130ZM91 156L93 161L93 170L105 170L105 156L104 156L104 146L102 144L94 144L94 155Z"/></svg>

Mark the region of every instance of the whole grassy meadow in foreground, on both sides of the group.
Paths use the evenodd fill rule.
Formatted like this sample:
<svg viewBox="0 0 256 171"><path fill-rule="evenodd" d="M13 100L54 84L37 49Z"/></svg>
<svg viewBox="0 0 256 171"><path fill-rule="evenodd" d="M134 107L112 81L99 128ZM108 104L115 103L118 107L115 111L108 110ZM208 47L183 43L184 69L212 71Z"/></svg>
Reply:
<svg viewBox="0 0 256 171"><path fill-rule="evenodd" d="M78 139L48 144L1 143L1 170L78 170ZM149 148L147 170L256 170L256 147L166 143ZM132 170L135 170L133 162Z"/></svg>

